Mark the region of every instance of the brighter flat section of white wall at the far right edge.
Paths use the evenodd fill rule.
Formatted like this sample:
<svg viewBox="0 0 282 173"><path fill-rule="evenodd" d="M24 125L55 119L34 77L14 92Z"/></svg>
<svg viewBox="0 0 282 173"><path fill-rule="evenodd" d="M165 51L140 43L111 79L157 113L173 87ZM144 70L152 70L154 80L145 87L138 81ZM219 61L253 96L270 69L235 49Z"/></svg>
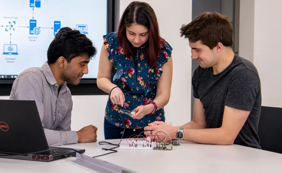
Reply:
<svg viewBox="0 0 282 173"><path fill-rule="evenodd" d="M254 65L262 83L262 105L282 107L282 1L255 0Z"/></svg>

